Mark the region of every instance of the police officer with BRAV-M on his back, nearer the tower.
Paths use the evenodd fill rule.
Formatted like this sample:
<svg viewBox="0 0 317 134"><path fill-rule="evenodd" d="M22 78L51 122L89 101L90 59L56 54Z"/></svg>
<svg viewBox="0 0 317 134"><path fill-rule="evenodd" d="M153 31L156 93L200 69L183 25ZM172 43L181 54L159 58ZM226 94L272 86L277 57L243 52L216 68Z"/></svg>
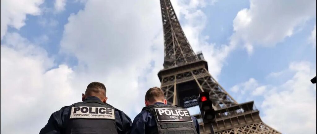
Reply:
<svg viewBox="0 0 317 134"><path fill-rule="evenodd" d="M150 88L146 107L134 118L131 134L199 134L198 121L188 110L166 104L163 90Z"/></svg>

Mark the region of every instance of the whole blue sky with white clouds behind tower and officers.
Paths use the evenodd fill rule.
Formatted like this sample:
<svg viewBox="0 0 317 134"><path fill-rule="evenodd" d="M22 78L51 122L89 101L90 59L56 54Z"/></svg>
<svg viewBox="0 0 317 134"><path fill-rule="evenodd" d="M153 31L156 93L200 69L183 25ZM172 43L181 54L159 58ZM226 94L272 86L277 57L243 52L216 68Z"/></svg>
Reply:
<svg viewBox="0 0 317 134"><path fill-rule="evenodd" d="M316 0L173 0L194 52L265 124L316 133ZM1 133L34 134L90 82L133 120L160 86L159 0L1 0ZM195 110L192 110L195 111Z"/></svg>

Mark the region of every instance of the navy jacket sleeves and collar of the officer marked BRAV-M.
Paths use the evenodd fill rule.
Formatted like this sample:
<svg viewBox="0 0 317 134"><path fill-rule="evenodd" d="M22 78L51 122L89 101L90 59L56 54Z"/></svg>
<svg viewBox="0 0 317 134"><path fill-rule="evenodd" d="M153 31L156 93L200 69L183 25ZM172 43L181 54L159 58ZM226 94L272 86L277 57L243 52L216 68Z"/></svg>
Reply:
<svg viewBox="0 0 317 134"><path fill-rule="evenodd" d="M156 102L155 104L165 105L162 102ZM191 116L191 119L193 120L195 124L197 133L200 134L199 124L197 119L194 116ZM157 129L156 120L155 118L153 118L152 113L146 110L143 110L134 118L130 134L145 134L146 130L149 130L149 129Z"/></svg>

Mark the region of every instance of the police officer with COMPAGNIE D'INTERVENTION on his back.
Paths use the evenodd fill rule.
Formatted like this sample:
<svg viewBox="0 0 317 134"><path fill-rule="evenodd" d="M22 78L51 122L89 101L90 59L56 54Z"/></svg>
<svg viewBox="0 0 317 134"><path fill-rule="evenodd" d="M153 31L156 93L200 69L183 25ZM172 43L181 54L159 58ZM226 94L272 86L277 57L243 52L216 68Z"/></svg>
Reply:
<svg viewBox="0 0 317 134"><path fill-rule="evenodd" d="M128 134L131 119L106 103L106 87L92 82L82 94L82 102L54 112L40 134Z"/></svg>

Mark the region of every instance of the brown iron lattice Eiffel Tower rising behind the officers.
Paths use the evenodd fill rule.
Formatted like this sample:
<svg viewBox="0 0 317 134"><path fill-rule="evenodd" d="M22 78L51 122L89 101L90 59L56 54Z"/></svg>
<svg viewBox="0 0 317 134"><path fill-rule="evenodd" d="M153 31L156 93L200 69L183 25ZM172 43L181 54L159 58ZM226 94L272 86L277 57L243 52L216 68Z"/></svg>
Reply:
<svg viewBox="0 0 317 134"><path fill-rule="evenodd" d="M164 69L158 73L167 103L189 108L197 106L197 96L207 91L216 110L216 122L200 121L200 133L280 134L264 124L254 102L238 103L208 72L201 52L195 54L185 37L170 0L160 0L164 31ZM202 117L195 115L198 120Z"/></svg>

